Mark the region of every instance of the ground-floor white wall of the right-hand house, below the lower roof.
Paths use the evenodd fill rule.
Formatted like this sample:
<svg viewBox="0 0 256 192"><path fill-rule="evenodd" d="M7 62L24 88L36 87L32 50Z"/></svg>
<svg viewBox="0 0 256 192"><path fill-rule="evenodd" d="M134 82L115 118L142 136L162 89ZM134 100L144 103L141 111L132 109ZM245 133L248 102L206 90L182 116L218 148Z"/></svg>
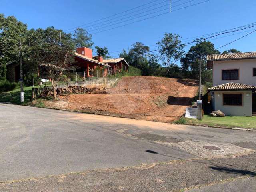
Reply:
<svg viewBox="0 0 256 192"><path fill-rule="evenodd" d="M223 93L242 93L243 106L224 106ZM228 116L252 116L252 91L216 91L214 92L214 110L221 110Z"/></svg>

